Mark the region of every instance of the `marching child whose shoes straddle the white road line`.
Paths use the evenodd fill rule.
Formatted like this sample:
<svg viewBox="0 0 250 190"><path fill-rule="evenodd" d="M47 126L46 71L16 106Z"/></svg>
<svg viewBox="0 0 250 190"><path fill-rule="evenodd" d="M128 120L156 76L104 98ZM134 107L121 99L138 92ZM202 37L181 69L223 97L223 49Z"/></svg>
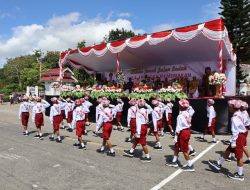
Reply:
<svg viewBox="0 0 250 190"><path fill-rule="evenodd" d="M195 171L194 166L190 160L188 150L189 150L189 139L190 139L190 127L191 127L191 116L187 111L189 107L189 102L187 100L180 100L180 113L177 117L176 124L176 135L175 141L175 151L174 157L171 162L167 162L167 166L178 167L177 159L179 152L183 152L184 158L187 161L187 165L182 167L184 171Z"/></svg>

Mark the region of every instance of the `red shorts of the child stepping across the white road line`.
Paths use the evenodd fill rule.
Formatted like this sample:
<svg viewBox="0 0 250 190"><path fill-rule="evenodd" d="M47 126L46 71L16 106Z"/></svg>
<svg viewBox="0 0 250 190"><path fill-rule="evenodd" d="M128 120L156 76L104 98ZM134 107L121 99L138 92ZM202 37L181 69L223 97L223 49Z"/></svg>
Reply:
<svg viewBox="0 0 250 190"><path fill-rule="evenodd" d="M179 148L181 152L188 152L188 144L190 139L190 129L183 129L178 135L178 142L175 147Z"/></svg>

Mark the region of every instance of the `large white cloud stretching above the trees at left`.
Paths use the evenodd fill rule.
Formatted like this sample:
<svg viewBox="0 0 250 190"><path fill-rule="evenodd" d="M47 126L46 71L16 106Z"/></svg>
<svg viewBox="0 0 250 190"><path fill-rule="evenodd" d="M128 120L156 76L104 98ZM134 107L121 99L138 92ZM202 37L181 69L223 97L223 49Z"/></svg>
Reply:
<svg viewBox="0 0 250 190"><path fill-rule="evenodd" d="M11 58L32 53L34 49L42 51L63 51L76 48L79 41L85 40L87 45L98 44L111 29L124 28L136 33L145 33L135 29L128 19L107 19L100 16L83 20L78 12L62 16L53 16L47 24L31 24L13 28L12 36L3 40L0 38L0 67L3 58Z"/></svg>

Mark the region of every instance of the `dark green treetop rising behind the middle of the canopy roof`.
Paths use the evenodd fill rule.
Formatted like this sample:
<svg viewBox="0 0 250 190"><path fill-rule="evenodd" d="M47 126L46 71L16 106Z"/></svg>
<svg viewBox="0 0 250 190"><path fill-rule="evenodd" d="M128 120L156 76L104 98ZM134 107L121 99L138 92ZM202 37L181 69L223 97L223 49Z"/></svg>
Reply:
<svg viewBox="0 0 250 190"><path fill-rule="evenodd" d="M109 34L106 35L103 39L104 43L116 41L116 40L122 40L122 39L127 39L134 37L135 33L131 30L125 30L124 28L122 29L116 29L116 30L111 30L109 31Z"/></svg>

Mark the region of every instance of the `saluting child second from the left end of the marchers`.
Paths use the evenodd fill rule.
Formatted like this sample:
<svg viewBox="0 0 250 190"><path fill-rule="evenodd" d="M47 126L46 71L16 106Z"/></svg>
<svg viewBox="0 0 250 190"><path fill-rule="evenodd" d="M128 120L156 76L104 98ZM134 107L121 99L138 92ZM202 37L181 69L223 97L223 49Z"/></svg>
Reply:
<svg viewBox="0 0 250 190"><path fill-rule="evenodd" d="M32 109L32 121L35 123L37 128L37 134L34 137L39 138L40 140L43 140L41 129L41 127L44 126L43 113L48 107L50 107L50 104L47 101L42 100L41 97L36 97L36 104Z"/></svg>

